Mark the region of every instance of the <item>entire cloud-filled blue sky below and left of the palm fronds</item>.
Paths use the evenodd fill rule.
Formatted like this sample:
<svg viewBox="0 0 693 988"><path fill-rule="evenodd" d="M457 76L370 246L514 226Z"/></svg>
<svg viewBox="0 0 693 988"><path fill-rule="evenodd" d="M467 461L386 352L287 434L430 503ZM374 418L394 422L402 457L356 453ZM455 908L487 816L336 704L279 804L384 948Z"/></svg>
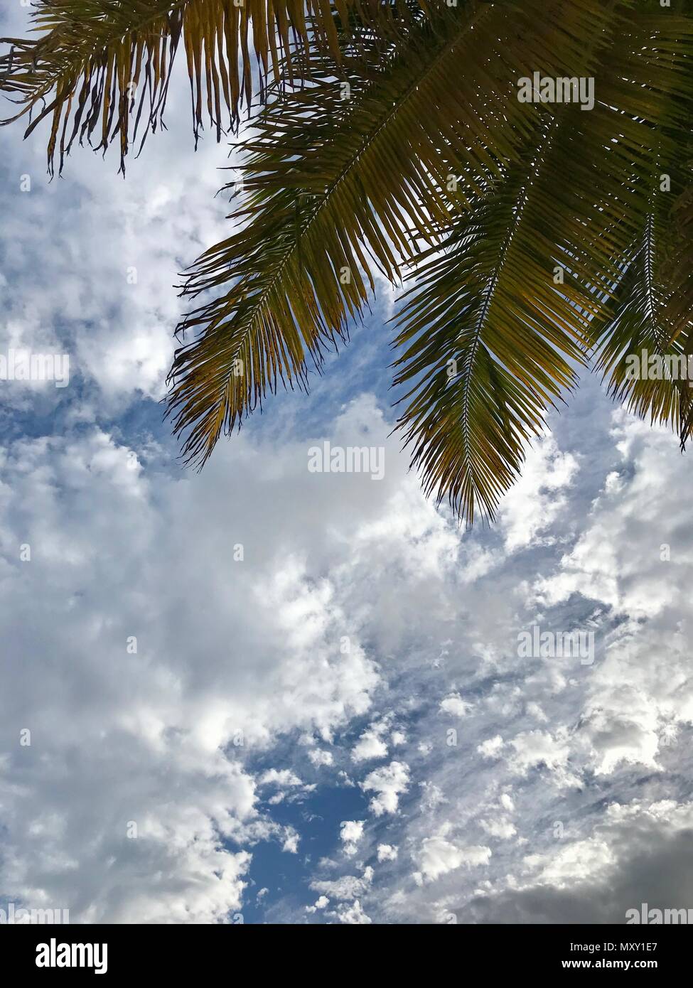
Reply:
<svg viewBox="0 0 693 988"><path fill-rule="evenodd" d="M65 388L0 382L0 895L84 923L693 905L690 455L587 377L465 532L391 435L383 288L309 395L184 470L172 286L223 235L228 152L194 153L186 100L125 181L76 148L49 183L44 135L0 130L0 353L70 357ZM309 472L326 440L384 478ZM519 655L535 624L594 662Z"/></svg>

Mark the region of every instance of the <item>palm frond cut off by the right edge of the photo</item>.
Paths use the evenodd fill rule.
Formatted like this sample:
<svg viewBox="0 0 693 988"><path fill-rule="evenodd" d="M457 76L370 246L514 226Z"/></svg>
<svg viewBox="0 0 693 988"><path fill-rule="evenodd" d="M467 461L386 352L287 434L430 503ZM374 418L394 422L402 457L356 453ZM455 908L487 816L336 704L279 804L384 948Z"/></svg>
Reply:
<svg viewBox="0 0 693 988"><path fill-rule="evenodd" d="M617 401L651 423L668 423L685 445L693 426L691 389L680 374L681 361L687 366L693 356L693 20L641 12L620 49L619 91L607 95L628 113L622 143L634 161L637 201L629 196L624 210L633 240L620 254L615 306L590 327L595 367Z"/></svg>

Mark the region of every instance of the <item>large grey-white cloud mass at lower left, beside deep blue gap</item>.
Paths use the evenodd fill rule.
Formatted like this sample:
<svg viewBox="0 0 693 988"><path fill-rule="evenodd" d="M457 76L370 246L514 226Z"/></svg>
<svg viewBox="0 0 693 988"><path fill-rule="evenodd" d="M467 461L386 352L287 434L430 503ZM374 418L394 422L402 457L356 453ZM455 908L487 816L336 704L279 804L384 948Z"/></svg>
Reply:
<svg viewBox="0 0 693 988"><path fill-rule="evenodd" d="M379 418L388 442L368 398L334 435ZM147 468L96 428L2 451L2 881L18 900L83 921L210 922L241 909L258 843L300 847L272 816L277 794L311 788L276 762L254 773L252 759L296 732L330 741L383 683L362 644L371 587L355 596L353 576L369 569L366 546L383 567L406 554L374 535L392 500L417 551L427 539L433 558L448 551L413 479L408 492L394 478L321 486L303 443L263 452L241 439L234 452L197 479ZM279 485L312 507L268 531ZM313 769L331 766L328 750L302 750ZM362 784L375 813L392 813L406 765ZM362 821L345 821L348 852L362 835Z"/></svg>

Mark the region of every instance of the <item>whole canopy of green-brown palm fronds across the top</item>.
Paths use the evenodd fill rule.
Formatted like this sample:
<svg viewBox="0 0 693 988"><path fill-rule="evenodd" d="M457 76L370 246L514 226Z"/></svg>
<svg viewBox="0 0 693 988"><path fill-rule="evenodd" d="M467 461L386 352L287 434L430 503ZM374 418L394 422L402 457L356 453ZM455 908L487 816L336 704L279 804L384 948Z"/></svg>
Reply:
<svg viewBox="0 0 693 988"><path fill-rule="evenodd" d="M0 89L27 133L51 118L49 170L92 137L118 139L125 168L130 142L163 123L179 46L196 139L252 104L229 234L183 286L205 296L169 378L183 453L203 463L279 382L306 386L379 274L405 287L398 426L425 489L471 523L493 517L590 361L682 445L693 431L687 380L634 376L629 360L693 357L692 13L689 0L41 0L38 37L5 40ZM592 105L524 102L536 72L591 84Z"/></svg>

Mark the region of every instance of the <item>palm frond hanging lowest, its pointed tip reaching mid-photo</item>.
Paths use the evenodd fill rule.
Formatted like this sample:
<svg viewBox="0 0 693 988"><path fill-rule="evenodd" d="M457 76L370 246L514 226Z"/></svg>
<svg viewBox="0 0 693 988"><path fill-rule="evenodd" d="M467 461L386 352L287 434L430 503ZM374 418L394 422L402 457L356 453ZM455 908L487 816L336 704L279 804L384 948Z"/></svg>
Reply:
<svg viewBox="0 0 693 988"><path fill-rule="evenodd" d="M607 30L594 110L555 108L507 187L414 272L399 315L395 383L409 386L399 426L427 491L470 523L477 511L493 517L546 411L613 320L647 223L654 122L678 124L683 138L690 119L690 79L672 69L669 46L690 50L691 23L662 29L621 6Z"/></svg>

